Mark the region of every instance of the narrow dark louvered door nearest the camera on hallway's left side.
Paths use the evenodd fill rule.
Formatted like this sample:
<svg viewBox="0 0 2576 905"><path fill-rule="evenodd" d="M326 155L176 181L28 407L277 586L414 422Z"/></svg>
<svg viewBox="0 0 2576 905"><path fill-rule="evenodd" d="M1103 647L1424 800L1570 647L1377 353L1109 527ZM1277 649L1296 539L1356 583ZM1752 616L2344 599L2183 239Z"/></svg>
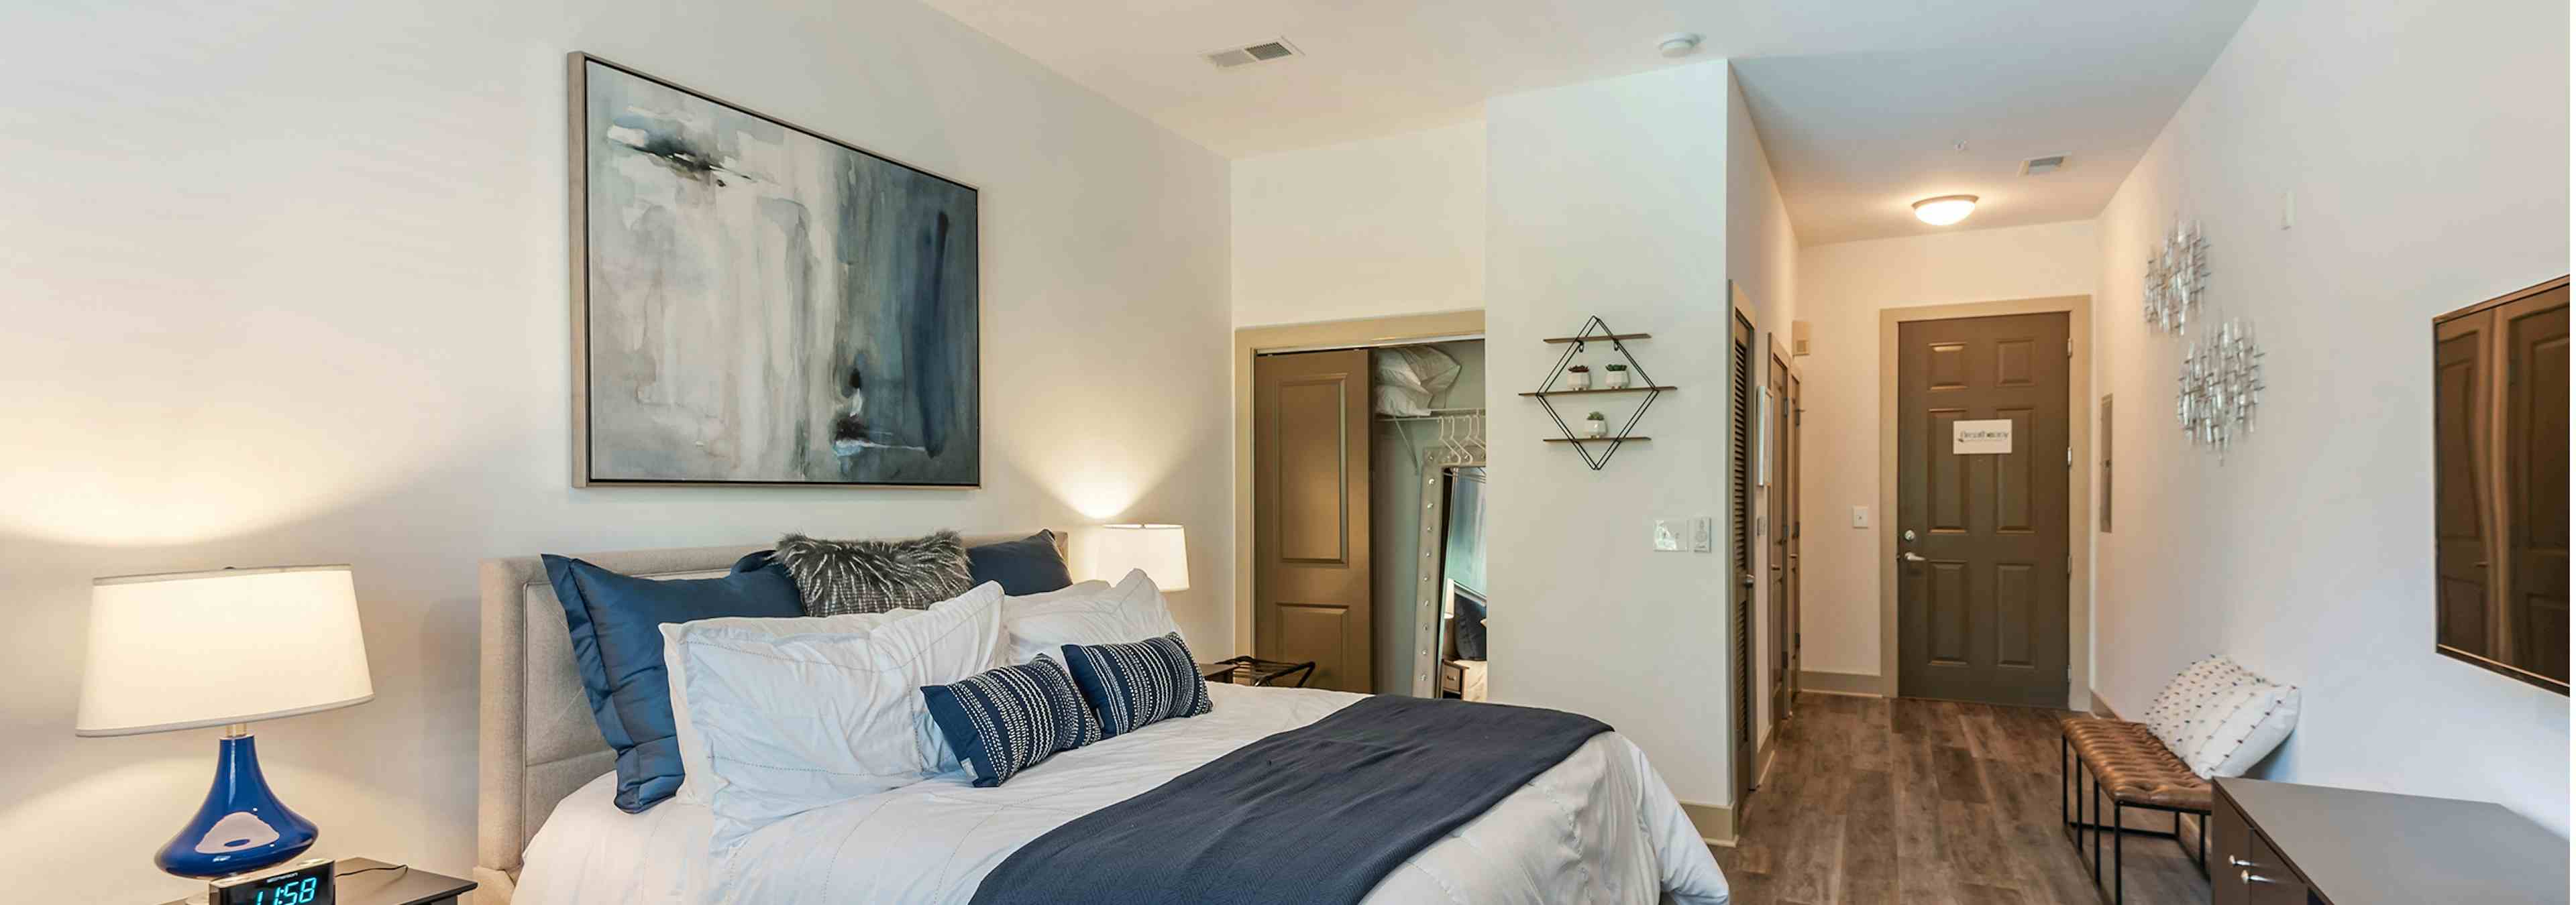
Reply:
<svg viewBox="0 0 2576 905"><path fill-rule="evenodd" d="M1754 792L1754 324L1736 314L1734 345L1726 355L1726 406L1734 414L1728 422L1726 445L1726 555L1728 571L1734 571L1734 586L1726 591L1726 658L1731 661L1731 679L1736 686L1736 720L1731 725L1734 735L1734 789L1736 789L1736 820L1744 820L1744 797Z"/></svg>

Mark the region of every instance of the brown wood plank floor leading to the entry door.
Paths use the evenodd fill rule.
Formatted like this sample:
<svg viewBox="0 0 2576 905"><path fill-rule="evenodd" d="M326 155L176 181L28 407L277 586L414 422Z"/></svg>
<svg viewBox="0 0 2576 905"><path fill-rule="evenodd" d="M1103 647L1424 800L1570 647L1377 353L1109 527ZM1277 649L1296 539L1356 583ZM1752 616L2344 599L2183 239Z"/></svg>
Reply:
<svg viewBox="0 0 2576 905"><path fill-rule="evenodd" d="M2110 900L2058 828L2058 710L1801 694L1734 848L1734 905ZM2169 818L2130 810L2169 828ZM2184 838L2197 841L2197 823ZM2128 838L2128 902L2205 905L2166 838Z"/></svg>

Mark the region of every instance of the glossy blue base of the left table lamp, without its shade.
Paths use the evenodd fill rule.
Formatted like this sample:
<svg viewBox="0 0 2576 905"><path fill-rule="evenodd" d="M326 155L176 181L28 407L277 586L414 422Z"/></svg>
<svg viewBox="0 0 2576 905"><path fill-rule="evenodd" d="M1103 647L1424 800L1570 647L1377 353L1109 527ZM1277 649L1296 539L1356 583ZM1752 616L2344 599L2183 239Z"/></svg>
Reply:
<svg viewBox="0 0 2576 905"><path fill-rule="evenodd" d="M178 877L232 877L286 864L314 846L322 830L304 820L260 776L260 751L245 728L224 735L214 764L214 789L152 864Z"/></svg>

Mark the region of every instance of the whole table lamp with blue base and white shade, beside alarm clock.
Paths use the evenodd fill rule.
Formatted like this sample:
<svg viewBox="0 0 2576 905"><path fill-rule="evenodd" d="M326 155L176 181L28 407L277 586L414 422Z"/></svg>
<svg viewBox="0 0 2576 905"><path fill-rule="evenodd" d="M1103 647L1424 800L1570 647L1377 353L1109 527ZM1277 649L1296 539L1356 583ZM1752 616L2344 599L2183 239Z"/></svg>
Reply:
<svg viewBox="0 0 2576 905"><path fill-rule="evenodd" d="M77 735L224 728L214 789L152 859L178 877L283 864L319 830L260 776L250 722L376 697L348 566L222 568L90 581Z"/></svg>

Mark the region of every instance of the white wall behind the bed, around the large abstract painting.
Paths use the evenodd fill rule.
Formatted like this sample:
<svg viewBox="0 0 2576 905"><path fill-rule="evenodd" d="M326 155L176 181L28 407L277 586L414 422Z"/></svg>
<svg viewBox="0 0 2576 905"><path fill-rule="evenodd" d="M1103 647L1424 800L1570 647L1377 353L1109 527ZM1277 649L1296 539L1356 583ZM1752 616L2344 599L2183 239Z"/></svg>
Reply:
<svg viewBox="0 0 2576 905"><path fill-rule="evenodd" d="M446 874L489 555L1167 519L1208 576L1182 627L1229 638L1226 162L1036 62L912 3L8 21L0 872L188 890L149 854L216 733L72 738L93 576L355 563L379 697L260 725L268 776L319 854ZM572 49L984 190L981 491L569 486Z"/></svg>

